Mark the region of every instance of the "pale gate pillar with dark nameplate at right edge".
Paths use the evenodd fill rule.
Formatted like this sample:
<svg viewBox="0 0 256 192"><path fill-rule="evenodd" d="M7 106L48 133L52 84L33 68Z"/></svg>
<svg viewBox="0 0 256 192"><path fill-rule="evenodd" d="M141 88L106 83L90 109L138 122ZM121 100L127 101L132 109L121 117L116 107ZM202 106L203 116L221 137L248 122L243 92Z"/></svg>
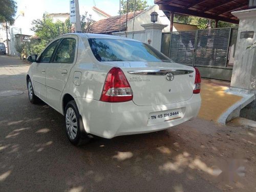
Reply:
<svg viewBox="0 0 256 192"><path fill-rule="evenodd" d="M255 92L256 48L247 47L256 42L256 9L235 11L232 14L237 16L240 22L231 87Z"/></svg>

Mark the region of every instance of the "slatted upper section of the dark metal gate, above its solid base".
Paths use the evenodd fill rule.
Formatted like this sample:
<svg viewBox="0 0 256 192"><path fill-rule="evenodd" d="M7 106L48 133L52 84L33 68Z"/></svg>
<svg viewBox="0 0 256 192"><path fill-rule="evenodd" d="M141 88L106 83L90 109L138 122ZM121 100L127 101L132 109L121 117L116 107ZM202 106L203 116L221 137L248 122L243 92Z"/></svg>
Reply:
<svg viewBox="0 0 256 192"><path fill-rule="evenodd" d="M227 67L231 29L170 33L169 58L189 66Z"/></svg>

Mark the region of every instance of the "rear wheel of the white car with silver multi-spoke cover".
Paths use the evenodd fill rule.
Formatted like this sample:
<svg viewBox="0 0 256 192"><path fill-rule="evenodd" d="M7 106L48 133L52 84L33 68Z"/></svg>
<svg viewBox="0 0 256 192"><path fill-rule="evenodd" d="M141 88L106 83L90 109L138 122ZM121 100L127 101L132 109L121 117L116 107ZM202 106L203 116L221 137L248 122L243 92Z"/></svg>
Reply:
<svg viewBox="0 0 256 192"><path fill-rule="evenodd" d="M66 135L73 145L83 145L90 141L91 137L83 127L75 101L69 101L65 109Z"/></svg>

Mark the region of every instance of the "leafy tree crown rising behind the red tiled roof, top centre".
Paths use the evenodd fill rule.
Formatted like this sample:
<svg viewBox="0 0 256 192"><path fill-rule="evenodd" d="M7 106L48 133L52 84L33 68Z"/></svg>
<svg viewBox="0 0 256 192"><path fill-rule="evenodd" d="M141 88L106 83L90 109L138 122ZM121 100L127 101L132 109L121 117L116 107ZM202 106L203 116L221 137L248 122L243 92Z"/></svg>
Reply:
<svg viewBox="0 0 256 192"><path fill-rule="evenodd" d="M129 0L128 2L128 12L134 12L134 6L136 1L135 11L145 10L149 6L145 0ZM121 14L126 14L127 9L127 0L121 0ZM119 13L120 11L118 11Z"/></svg>

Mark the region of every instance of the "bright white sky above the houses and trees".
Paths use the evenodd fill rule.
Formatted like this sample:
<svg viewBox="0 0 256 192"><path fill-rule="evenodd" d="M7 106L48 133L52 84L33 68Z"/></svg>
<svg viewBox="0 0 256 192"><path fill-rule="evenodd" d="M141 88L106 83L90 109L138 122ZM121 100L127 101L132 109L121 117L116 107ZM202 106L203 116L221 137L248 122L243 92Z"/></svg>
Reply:
<svg viewBox="0 0 256 192"><path fill-rule="evenodd" d="M33 19L42 17L47 13L69 13L69 0L16 0L17 2L17 22L15 27L22 28L23 34L30 34L31 22ZM154 0L147 0L147 4L154 5ZM96 6L102 11L114 16L118 14L119 0L79 0L79 10L82 14L84 9ZM25 16L19 15L24 12Z"/></svg>

